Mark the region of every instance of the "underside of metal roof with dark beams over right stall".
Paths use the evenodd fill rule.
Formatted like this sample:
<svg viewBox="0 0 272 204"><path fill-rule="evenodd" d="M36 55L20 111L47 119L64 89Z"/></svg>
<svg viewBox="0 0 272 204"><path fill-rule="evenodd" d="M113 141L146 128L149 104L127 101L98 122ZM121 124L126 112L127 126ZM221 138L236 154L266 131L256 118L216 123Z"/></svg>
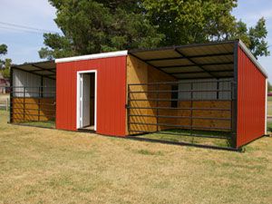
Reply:
<svg viewBox="0 0 272 204"><path fill-rule="evenodd" d="M189 44L129 53L177 79L233 77L234 41Z"/></svg>

